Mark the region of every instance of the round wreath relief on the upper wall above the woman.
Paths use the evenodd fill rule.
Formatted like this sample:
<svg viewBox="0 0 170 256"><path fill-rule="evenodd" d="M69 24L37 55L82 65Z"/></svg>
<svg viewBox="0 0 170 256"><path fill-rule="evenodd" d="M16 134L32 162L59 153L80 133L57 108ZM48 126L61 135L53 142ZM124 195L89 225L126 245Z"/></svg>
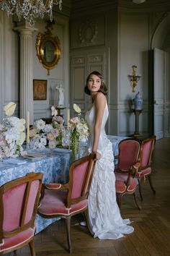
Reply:
<svg viewBox="0 0 170 256"><path fill-rule="evenodd" d="M94 40L97 37L97 25L90 21L86 20L81 23L79 28L79 40L83 46L89 46L94 43Z"/></svg>

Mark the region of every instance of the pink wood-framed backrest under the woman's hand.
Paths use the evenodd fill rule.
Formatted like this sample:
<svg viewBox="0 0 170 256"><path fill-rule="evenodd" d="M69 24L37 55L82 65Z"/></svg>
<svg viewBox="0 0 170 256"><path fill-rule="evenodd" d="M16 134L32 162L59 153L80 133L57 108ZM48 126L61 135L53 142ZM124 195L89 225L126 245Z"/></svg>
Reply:
<svg viewBox="0 0 170 256"><path fill-rule="evenodd" d="M92 155L87 155L71 163L67 208L88 197L94 164L94 156Z"/></svg>

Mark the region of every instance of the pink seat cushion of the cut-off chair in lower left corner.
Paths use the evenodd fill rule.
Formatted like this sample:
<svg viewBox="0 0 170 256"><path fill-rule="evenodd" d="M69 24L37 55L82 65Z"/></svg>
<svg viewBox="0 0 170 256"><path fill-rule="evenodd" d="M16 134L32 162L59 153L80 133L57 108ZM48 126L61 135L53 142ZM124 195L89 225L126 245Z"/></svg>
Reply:
<svg viewBox="0 0 170 256"><path fill-rule="evenodd" d="M35 234L35 228L34 229L30 228L30 229L21 231L19 234L16 234L12 237L3 238L4 243L0 245L0 252L3 252L7 249L12 249L17 245L27 242L27 240L33 238L34 234Z"/></svg>

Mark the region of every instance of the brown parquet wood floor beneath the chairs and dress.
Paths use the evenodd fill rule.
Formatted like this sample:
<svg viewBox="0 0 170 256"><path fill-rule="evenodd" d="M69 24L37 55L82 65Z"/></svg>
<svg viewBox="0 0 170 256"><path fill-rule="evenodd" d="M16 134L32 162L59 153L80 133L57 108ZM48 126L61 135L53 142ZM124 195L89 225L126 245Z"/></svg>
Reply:
<svg viewBox="0 0 170 256"><path fill-rule="evenodd" d="M135 206L133 195L122 198L122 217L130 218L133 234L118 240L99 240L90 236L86 227L76 225L73 218L71 242L73 256L157 256L170 255L170 139L156 141L153 153L153 195L146 179L141 210ZM64 222L57 221L35 236L37 256L68 256ZM13 253L7 256L12 256ZM17 256L29 256L28 247L17 251Z"/></svg>

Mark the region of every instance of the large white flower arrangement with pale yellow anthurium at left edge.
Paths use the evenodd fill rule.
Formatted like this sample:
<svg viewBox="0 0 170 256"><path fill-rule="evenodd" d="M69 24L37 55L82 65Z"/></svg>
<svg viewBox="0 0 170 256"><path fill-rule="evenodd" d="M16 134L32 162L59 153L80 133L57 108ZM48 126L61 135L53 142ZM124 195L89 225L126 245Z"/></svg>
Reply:
<svg viewBox="0 0 170 256"><path fill-rule="evenodd" d="M17 157L23 151L25 120L12 116L15 108L16 104L13 102L4 106L6 117L0 124L0 159Z"/></svg>

